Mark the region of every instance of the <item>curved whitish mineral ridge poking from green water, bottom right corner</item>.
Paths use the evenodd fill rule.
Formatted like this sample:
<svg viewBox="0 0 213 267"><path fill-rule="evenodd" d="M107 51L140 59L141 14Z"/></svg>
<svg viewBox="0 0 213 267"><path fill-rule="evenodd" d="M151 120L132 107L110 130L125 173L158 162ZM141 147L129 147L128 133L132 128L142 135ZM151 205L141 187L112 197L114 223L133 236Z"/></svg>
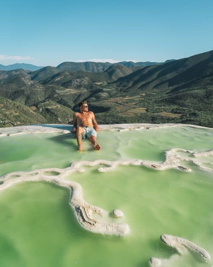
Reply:
<svg viewBox="0 0 213 267"><path fill-rule="evenodd" d="M181 255L185 255L188 253L188 250L191 250L198 254L200 257L202 257L206 262L208 262L211 259L210 254L204 250L203 248L199 247L198 245L192 243L191 241L181 238L181 237L176 237L173 235L167 235L167 234L162 234L161 235L161 240L168 246L174 248L179 252ZM151 267L163 267L163 266L172 266L173 261L177 261L178 258L180 258L178 254L175 254L171 256L169 259L159 259L159 258L154 258L151 257L149 264Z"/></svg>

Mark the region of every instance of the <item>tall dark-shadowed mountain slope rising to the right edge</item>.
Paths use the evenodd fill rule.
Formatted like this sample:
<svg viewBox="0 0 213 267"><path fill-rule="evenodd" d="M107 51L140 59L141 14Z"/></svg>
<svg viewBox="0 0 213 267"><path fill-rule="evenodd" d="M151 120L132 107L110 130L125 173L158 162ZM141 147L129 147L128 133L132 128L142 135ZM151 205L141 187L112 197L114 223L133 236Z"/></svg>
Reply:
<svg viewBox="0 0 213 267"><path fill-rule="evenodd" d="M162 65L151 65L139 69L132 74L121 77L116 81L122 91L128 93L178 91L189 86L189 83L199 81L213 74L213 50L170 61Z"/></svg>

